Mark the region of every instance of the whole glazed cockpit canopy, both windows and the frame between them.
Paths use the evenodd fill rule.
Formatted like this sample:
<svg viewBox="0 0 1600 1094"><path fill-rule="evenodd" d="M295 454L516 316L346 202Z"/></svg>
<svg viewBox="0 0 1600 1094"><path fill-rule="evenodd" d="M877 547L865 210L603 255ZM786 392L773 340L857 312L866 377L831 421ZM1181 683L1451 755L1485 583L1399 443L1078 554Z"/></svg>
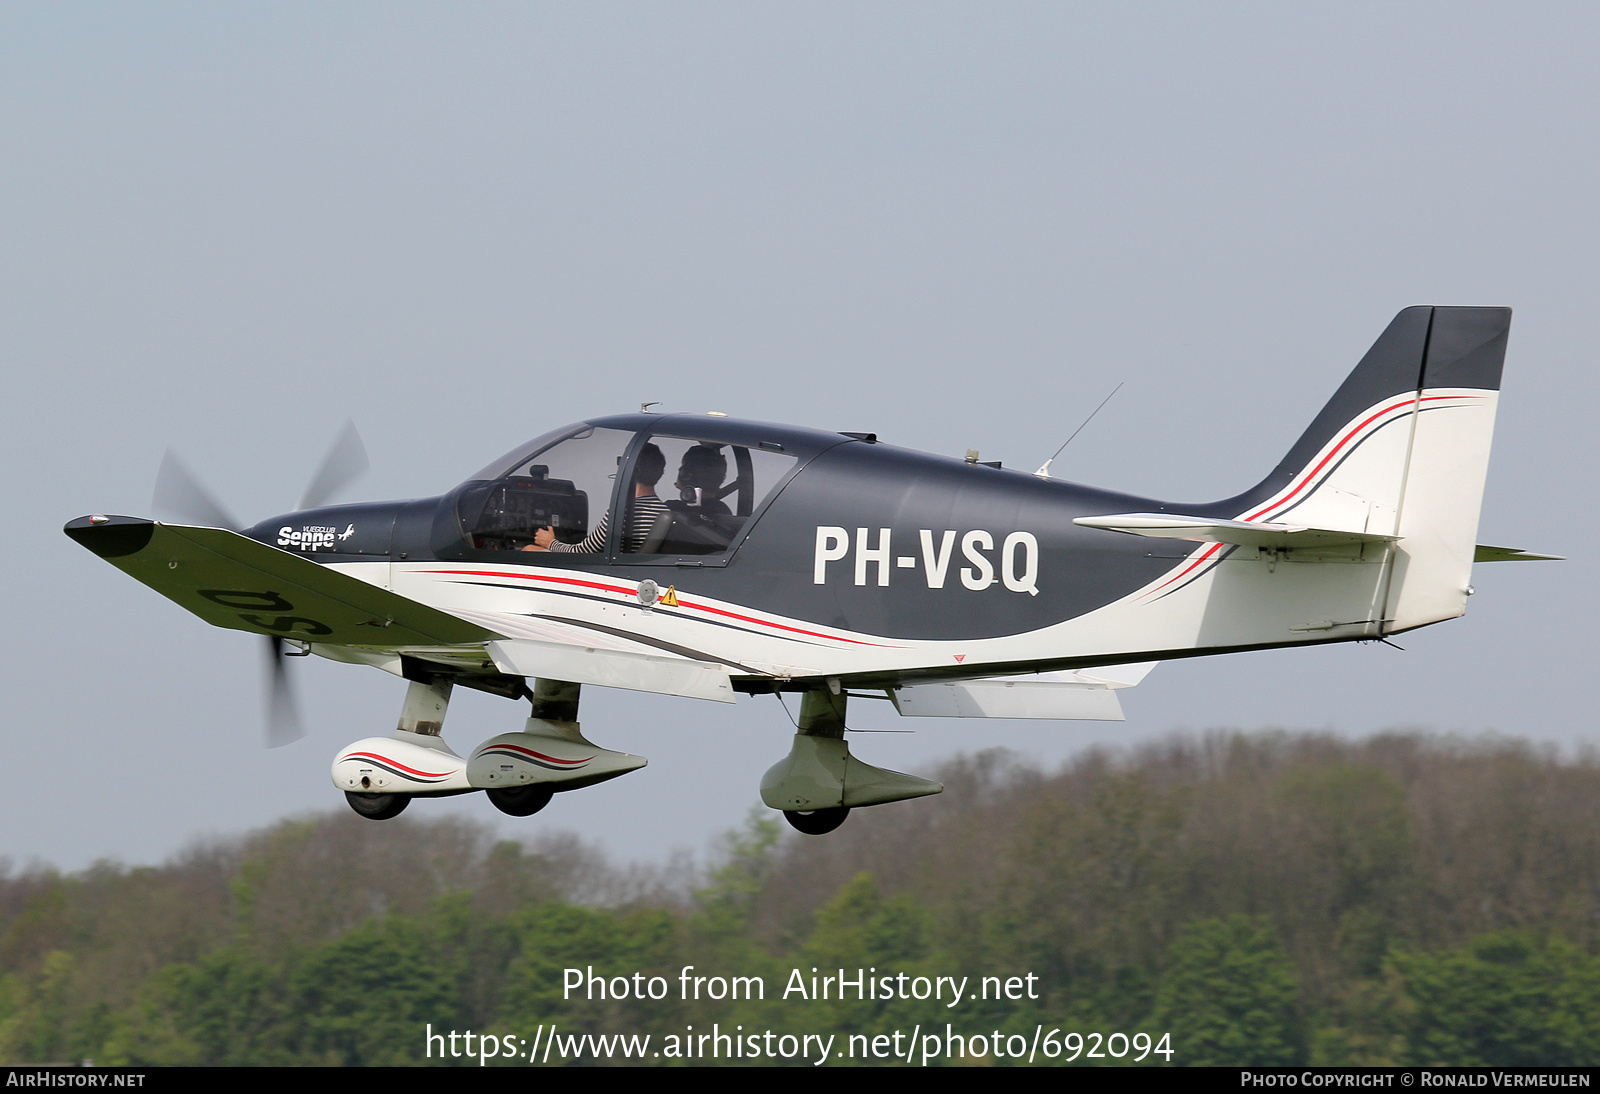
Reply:
<svg viewBox="0 0 1600 1094"><path fill-rule="evenodd" d="M798 459L781 441L696 437L685 417L578 422L522 445L454 491L462 534L490 552L725 555Z"/></svg>

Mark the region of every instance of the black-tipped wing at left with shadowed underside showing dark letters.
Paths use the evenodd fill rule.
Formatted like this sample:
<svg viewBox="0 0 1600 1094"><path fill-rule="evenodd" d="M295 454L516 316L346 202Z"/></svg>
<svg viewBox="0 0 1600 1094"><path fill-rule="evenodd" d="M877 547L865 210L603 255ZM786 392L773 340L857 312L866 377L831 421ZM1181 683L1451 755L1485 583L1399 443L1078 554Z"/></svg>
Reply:
<svg viewBox="0 0 1600 1094"><path fill-rule="evenodd" d="M333 646L458 646L493 630L222 528L80 517L66 533L216 627Z"/></svg>

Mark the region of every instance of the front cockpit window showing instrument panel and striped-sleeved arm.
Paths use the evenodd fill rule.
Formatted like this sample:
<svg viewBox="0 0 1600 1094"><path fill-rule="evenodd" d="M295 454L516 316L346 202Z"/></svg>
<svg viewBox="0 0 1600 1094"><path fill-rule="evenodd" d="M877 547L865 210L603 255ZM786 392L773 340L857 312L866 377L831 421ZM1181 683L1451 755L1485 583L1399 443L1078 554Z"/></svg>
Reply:
<svg viewBox="0 0 1600 1094"><path fill-rule="evenodd" d="M549 528L562 544L555 550L603 552L597 529L632 440L629 430L579 425L490 464L461 493L458 512L469 542L480 550L520 552Z"/></svg>

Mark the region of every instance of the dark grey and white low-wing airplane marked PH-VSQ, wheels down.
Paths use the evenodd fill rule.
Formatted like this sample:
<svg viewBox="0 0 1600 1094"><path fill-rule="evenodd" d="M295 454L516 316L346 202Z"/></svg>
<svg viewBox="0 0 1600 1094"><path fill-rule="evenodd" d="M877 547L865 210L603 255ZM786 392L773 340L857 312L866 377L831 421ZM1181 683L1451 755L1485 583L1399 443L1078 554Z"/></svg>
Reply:
<svg viewBox="0 0 1600 1094"><path fill-rule="evenodd" d="M1174 657L1374 641L1464 614L1510 310L1408 307L1278 465L1216 502L1136 497L874 433L654 414L576 422L454 489L235 529L90 515L66 534L218 627L408 681L398 726L334 757L363 817L486 792L531 816L643 768L595 745L584 686L797 694L762 801L798 832L939 793L859 760L850 699L906 717L1122 717ZM656 493L659 488L661 493ZM451 689L526 701L461 755Z"/></svg>

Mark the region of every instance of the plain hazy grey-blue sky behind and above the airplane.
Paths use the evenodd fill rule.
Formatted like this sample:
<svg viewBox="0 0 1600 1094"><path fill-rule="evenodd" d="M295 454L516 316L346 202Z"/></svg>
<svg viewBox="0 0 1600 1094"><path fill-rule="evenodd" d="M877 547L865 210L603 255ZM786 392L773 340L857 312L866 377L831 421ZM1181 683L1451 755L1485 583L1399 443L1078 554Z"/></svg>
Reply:
<svg viewBox="0 0 1600 1094"><path fill-rule="evenodd" d="M1125 725L853 721L918 769L1179 728L1592 739L1600 83L1592 5L0 8L0 851L74 868L342 808L403 685L261 651L61 534L171 445L246 520L355 417L349 497L438 493L563 422L718 409L1174 499L1254 483L1408 304L1517 309L1464 621L1163 665ZM317 659L310 659L317 661ZM466 696L446 736L515 728ZM507 832L702 848L786 750L589 689L651 766ZM917 808L912 805L886 808ZM474 797L422 811L498 814Z"/></svg>

